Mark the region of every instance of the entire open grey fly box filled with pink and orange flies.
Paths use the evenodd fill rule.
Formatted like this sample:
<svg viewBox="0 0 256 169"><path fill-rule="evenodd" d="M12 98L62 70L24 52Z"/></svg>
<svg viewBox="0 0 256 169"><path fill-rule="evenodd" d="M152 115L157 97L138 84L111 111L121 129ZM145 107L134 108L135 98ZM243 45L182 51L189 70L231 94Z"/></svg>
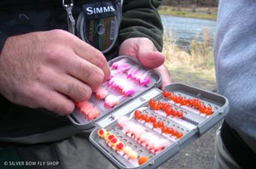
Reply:
<svg viewBox="0 0 256 169"><path fill-rule="evenodd" d="M109 66L103 96L94 93L89 104L78 104L70 119L91 129L90 142L118 168L160 166L229 110L224 96L200 88L173 83L160 90L160 75L135 59L122 56ZM108 104L110 94L118 102Z"/></svg>

